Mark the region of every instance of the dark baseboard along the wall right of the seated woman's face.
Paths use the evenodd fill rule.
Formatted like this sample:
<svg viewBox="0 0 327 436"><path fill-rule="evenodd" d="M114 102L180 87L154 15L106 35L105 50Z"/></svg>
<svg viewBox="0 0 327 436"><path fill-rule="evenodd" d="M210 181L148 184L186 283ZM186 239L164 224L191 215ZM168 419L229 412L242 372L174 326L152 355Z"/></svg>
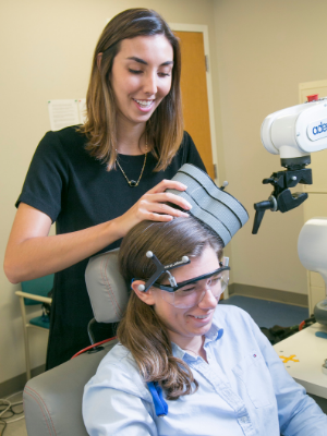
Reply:
<svg viewBox="0 0 327 436"><path fill-rule="evenodd" d="M244 295L254 299L276 301L278 303L293 304L308 307L308 298L303 293L279 291L277 289L253 287L249 284L232 283L228 286L229 295Z"/></svg>

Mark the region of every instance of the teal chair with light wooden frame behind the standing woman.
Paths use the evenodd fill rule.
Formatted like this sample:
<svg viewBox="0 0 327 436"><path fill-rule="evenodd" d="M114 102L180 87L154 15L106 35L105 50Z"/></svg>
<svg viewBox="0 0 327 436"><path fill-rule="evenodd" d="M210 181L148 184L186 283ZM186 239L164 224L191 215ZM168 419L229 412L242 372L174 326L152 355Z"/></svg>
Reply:
<svg viewBox="0 0 327 436"><path fill-rule="evenodd" d="M39 330L49 330L50 319L47 315L41 315L27 320L25 306L41 304L41 303L51 304L52 299L48 296L48 293L52 289L53 277L55 275L51 274L49 276L40 277L38 279L23 281L21 283L22 291L15 292L15 294L20 296L20 304L21 304L21 312L23 319L27 380L31 379L28 329L36 328Z"/></svg>

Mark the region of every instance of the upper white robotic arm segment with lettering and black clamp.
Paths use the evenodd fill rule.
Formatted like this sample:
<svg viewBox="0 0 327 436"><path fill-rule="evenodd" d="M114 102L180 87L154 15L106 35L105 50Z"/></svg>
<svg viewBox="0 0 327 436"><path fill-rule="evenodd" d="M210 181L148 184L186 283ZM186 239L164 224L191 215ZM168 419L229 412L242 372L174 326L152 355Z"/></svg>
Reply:
<svg viewBox="0 0 327 436"><path fill-rule="evenodd" d="M283 171L274 172L264 184L271 184L269 198L255 203L252 233L256 234L267 209L286 213L300 206L306 193L292 194L298 183L312 184L310 154L327 148L327 97L279 110L262 125L262 143L272 155L280 155Z"/></svg>

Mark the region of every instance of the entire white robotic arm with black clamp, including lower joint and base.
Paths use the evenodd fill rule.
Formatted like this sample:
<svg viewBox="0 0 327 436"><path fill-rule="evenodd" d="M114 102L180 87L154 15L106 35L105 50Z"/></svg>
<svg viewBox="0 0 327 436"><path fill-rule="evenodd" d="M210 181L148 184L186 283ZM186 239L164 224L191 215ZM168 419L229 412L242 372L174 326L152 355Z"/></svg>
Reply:
<svg viewBox="0 0 327 436"><path fill-rule="evenodd" d="M263 181L264 184L270 183L274 191L267 201L254 205L254 234L266 209L284 213L307 198L306 193L292 194L290 187L298 183L312 184L312 171L305 168L311 162L310 154L327 148L327 97L268 116L262 125L262 142L269 153L280 155L281 166L286 170L274 172ZM314 308L316 320L324 325L327 325L326 246L327 218L314 218L305 222L299 237L298 252L302 265L319 272L326 283L326 299Z"/></svg>

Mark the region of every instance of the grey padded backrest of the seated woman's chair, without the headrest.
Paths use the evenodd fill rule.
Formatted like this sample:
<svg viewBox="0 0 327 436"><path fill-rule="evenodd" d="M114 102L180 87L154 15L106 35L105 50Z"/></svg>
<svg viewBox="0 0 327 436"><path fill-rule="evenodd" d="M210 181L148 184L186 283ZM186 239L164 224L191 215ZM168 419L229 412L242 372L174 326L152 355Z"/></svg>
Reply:
<svg viewBox="0 0 327 436"><path fill-rule="evenodd" d="M117 343L77 358L27 382L23 399L28 436L87 436L82 416L84 386Z"/></svg>

